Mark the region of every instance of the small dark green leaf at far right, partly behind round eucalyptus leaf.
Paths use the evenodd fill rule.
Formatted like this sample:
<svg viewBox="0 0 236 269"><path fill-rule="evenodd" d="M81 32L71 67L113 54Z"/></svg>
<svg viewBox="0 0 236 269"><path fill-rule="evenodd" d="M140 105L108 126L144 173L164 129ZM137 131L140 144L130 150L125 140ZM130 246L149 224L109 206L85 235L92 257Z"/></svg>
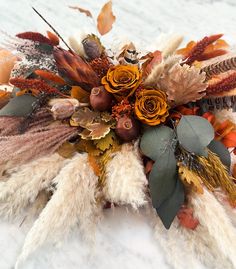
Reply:
<svg viewBox="0 0 236 269"><path fill-rule="evenodd" d="M223 143L217 140L212 140L208 148L212 152L217 154L221 162L230 169L230 165L231 165L230 153Z"/></svg>

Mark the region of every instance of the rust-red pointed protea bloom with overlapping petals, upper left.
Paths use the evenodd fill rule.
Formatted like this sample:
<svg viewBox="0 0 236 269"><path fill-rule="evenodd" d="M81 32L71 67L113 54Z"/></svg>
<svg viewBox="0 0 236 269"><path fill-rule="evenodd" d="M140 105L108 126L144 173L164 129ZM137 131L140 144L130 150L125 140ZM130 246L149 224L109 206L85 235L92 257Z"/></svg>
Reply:
<svg viewBox="0 0 236 269"><path fill-rule="evenodd" d="M85 89L99 86L97 74L79 55L58 48L54 49L53 55L59 73L63 78L73 81L73 85Z"/></svg>

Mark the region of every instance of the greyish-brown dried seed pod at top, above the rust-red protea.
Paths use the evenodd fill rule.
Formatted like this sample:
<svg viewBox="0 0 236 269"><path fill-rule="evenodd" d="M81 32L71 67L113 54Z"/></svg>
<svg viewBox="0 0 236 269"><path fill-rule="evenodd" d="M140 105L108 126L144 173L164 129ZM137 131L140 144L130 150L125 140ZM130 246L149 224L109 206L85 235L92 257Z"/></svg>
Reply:
<svg viewBox="0 0 236 269"><path fill-rule="evenodd" d="M99 38L95 35L88 35L82 40L82 45L89 60L99 58L104 50Z"/></svg>

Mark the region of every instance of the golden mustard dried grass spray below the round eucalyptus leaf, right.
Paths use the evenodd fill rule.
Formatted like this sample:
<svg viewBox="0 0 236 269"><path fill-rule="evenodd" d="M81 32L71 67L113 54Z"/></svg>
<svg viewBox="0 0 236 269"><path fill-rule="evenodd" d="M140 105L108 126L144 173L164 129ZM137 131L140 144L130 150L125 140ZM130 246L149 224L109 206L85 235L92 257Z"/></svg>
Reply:
<svg viewBox="0 0 236 269"><path fill-rule="evenodd" d="M202 166L199 171L203 183L209 190L220 187L226 192L232 204L236 204L236 185L233 177L229 174L228 169L222 164L220 158L210 150L208 157L198 157Z"/></svg>

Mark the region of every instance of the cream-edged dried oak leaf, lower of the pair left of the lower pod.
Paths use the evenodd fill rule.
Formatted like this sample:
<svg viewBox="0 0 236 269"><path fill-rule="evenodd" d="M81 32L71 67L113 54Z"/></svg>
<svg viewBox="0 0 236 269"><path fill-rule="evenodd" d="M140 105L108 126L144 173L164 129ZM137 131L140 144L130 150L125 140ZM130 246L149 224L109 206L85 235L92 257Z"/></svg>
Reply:
<svg viewBox="0 0 236 269"><path fill-rule="evenodd" d="M94 140L105 137L109 132L110 132L110 125L101 121L87 125L86 129L84 129L80 133L80 136L82 139Z"/></svg>

